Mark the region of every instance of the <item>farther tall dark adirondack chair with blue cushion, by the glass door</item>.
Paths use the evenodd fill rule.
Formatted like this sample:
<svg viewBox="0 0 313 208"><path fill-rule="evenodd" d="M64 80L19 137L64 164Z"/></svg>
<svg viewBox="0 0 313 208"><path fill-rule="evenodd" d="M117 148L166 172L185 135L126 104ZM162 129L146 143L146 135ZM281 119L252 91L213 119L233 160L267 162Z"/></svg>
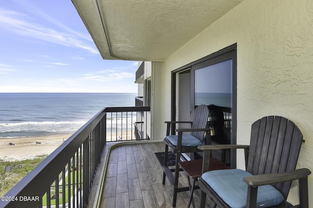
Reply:
<svg viewBox="0 0 313 208"><path fill-rule="evenodd" d="M187 160L183 157L181 153L187 152L199 152L197 148L199 145L206 144L205 139L203 139L204 132L206 135L209 135L208 132L210 129L206 128L207 121L209 116L209 110L207 106L200 105L195 109L193 121L166 121L167 130L166 137L164 138L165 144L165 153L164 153L164 165L163 169L163 185L165 184L165 178L168 177L168 180L172 185L174 185L174 194L173 194L173 207L176 207L176 198L177 193L181 191L189 190L189 187L178 188L179 181L179 161L182 157L183 160ZM170 129L173 124L176 123L190 123L190 129L176 129L178 135L170 135ZM191 132L190 134L182 134L183 132ZM176 154L176 165L175 168L169 168L167 166L167 156L168 150ZM175 172L173 175L172 172Z"/></svg>

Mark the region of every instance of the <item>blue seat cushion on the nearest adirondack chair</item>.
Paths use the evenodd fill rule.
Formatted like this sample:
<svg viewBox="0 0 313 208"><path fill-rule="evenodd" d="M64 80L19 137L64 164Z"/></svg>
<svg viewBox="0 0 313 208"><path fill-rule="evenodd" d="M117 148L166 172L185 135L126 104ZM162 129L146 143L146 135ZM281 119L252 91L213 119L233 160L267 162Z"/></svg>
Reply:
<svg viewBox="0 0 313 208"><path fill-rule="evenodd" d="M247 185L243 178L251 175L245 170L231 169L208 171L201 177L231 208L246 208ZM258 187L257 207L275 206L283 200L283 195L274 187Z"/></svg>

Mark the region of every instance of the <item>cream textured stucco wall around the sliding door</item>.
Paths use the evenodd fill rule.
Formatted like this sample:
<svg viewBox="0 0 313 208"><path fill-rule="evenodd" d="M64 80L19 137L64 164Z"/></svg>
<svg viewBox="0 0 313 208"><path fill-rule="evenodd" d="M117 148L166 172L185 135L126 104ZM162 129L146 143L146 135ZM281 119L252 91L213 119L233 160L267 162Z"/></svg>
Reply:
<svg viewBox="0 0 313 208"><path fill-rule="evenodd" d="M168 57L162 77L162 120L170 119L171 71L234 43L237 143L249 144L253 121L266 115L287 117L306 140L297 168L313 170L312 0L245 0ZM245 167L241 152L237 167ZM313 196L313 175L309 196ZM289 201L297 201L295 188ZM309 204L313 207L313 197Z"/></svg>

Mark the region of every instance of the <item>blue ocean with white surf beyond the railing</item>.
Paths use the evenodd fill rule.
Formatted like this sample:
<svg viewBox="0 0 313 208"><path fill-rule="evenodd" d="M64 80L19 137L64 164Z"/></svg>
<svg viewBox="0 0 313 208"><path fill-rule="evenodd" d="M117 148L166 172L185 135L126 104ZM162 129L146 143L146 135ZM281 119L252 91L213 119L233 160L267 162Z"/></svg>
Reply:
<svg viewBox="0 0 313 208"><path fill-rule="evenodd" d="M0 93L0 138L73 133L105 107L134 106L135 96L137 94L130 93Z"/></svg>

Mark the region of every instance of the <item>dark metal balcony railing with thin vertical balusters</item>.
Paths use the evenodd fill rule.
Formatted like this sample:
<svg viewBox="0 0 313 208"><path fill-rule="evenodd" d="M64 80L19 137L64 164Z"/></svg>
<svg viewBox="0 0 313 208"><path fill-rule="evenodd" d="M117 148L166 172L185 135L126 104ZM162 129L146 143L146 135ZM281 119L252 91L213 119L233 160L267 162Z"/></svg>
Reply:
<svg viewBox="0 0 313 208"><path fill-rule="evenodd" d="M148 111L103 109L9 190L0 208L85 208L106 142L137 140L135 124L147 123L137 112Z"/></svg>

